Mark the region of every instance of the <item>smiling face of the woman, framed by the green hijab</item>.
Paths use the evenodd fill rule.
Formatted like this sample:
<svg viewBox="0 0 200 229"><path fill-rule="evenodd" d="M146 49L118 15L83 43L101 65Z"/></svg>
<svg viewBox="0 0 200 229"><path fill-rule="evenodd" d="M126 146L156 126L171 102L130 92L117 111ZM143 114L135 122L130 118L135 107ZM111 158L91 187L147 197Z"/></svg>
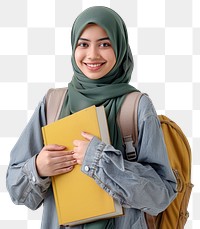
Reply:
<svg viewBox="0 0 200 229"><path fill-rule="evenodd" d="M85 27L77 43L75 61L89 79L100 79L114 67L115 53L104 29L96 24Z"/></svg>

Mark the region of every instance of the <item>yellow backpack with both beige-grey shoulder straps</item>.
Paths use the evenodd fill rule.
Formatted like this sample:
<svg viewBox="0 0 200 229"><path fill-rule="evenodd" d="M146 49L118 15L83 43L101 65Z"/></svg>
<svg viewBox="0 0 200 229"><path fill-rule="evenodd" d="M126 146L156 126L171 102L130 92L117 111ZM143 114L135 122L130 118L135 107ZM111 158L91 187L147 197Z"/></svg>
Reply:
<svg viewBox="0 0 200 229"><path fill-rule="evenodd" d="M58 119L67 88L50 89L46 96L47 122ZM126 157L134 160L137 145L137 107L143 93L133 92L126 96L118 113L118 124L126 147ZM50 109L51 107L54 109ZM183 229L188 219L187 211L192 191L191 149L181 128L164 115L158 115L167 147L171 168L177 179L177 197L158 216L146 214L149 229Z"/></svg>

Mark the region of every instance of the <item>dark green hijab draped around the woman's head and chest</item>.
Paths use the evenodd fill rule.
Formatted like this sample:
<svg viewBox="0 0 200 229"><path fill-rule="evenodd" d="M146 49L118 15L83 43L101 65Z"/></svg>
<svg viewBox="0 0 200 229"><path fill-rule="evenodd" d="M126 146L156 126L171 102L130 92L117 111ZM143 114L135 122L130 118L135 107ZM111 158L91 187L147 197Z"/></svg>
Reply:
<svg viewBox="0 0 200 229"><path fill-rule="evenodd" d="M78 68L74 53L77 41L85 26L95 23L107 33L116 55L116 64L104 77L96 80L87 78ZM122 138L116 124L116 116L127 93L136 91L129 84L133 71L133 57L128 44L124 21L112 9L94 6L84 10L75 20L71 31L72 67L74 76L68 84L60 118L86 107L105 107L112 145L122 150Z"/></svg>

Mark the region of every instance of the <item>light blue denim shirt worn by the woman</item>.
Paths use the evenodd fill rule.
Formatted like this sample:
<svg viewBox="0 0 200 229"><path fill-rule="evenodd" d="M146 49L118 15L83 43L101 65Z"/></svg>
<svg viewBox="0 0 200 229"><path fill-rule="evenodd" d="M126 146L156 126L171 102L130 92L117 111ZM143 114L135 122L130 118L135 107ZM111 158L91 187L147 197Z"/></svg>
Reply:
<svg viewBox="0 0 200 229"><path fill-rule="evenodd" d="M7 189L15 204L33 210L43 204L41 229L63 229L58 225L51 179L40 178L35 165L43 148L44 125L45 99L11 151ZM116 229L146 229L144 212L157 215L176 197L176 180L169 166L162 129L147 96L142 96L138 106L138 132L137 161L125 160L123 152L94 137L81 167L124 207L124 215L114 220Z"/></svg>

